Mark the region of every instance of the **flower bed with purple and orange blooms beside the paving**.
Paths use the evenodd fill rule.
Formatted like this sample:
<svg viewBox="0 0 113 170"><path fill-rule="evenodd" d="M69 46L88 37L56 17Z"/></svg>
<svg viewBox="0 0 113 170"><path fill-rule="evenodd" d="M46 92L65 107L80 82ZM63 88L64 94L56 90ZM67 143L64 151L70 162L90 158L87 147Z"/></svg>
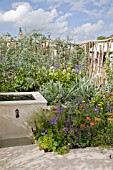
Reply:
<svg viewBox="0 0 113 170"><path fill-rule="evenodd" d="M35 113L33 134L45 151L65 154L71 148L113 146L113 96L95 95L81 103Z"/></svg>

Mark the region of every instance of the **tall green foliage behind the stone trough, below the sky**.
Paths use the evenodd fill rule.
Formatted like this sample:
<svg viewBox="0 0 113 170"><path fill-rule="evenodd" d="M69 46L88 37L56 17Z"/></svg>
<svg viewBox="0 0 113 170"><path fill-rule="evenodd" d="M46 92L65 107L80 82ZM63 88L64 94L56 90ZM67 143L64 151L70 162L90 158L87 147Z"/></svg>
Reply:
<svg viewBox="0 0 113 170"><path fill-rule="evenodd" d="M48 41L46 37L36 30L14 41L7 46L6 40L0 38L1 92L36 91L41 86L43 89L50 80L60 81L61 86L69 87L76 80L76 73L71 72L78 62L83 64L83 49L77 47L71 52L66 42L56 40L57 56L54 56L52 47L43 47ZM58 65L60 68L55 70Z"/></svg>

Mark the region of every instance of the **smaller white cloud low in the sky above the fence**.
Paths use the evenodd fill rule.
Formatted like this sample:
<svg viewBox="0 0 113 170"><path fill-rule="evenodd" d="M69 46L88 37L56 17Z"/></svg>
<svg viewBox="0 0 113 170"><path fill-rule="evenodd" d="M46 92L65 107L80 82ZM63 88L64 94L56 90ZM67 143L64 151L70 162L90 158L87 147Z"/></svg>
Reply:
<svg viewBox="0 0 113 170"><path fill-rule="evenodd" d="M104 29L104 22L99 20L96 24L85 23L74 29L73 34L75 41L85 41L97 38L99 32Z"/></svg>

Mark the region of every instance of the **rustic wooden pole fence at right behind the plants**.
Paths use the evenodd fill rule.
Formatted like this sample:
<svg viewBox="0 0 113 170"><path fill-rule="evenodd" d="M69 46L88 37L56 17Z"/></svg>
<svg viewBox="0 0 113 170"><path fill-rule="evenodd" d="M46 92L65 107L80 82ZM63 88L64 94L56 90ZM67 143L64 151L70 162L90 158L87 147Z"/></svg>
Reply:
<svg viewBox="0 0 113 170"><path fill-rule="evenodd" d="M88 41L80 46L84 48L89 76L92 76L98 85L106 83L106 63L109 61L110 69L113 64L113 38Z"/></svg>

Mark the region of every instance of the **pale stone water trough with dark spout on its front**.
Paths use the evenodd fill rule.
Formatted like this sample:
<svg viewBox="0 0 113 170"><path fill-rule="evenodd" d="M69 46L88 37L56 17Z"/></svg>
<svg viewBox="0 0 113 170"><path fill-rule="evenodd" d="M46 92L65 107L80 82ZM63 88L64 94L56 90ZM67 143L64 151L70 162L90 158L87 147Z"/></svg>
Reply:
<svg viewBox="0 0 113 170"><path fill-rule="evenodd" d="M4 94L4 93L0 93ZM14 94L14 93L7 93ZM26 94L26 93L15 93ZM30 93L27 93L30 94ZM19 144L19 139L29 138L31 136L31 128L28 126L27 120L40 108L47 106L47 101L39 94L32 94L36 100L29 101L2 101L0 102L0 147L5 143L11 144L11 139L14 143ZM16 118L15 110L19 110L19 117ZM16 139L16 141L15 141ZM25 141L23 141L25 142Z"/></svg>

